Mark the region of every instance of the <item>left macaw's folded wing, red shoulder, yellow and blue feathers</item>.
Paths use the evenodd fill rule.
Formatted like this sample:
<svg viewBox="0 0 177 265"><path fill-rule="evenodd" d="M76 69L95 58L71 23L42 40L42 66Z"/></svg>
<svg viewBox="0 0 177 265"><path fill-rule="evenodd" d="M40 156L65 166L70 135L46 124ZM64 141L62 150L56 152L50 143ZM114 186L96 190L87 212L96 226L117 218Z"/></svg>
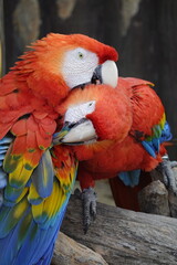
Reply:
<svg viewBox="0 0 177 265"><path fill-rule="evenodd" d="M55 121L48 116L39 120L39 115L38 119L22 117L11 128L13 141L2 157L0 181L0 259L4 265L50 263L76 172L72 153L62 147L56 148L61 158L51 150L62 166L55 167L49 150L54 129Z"/></svg>

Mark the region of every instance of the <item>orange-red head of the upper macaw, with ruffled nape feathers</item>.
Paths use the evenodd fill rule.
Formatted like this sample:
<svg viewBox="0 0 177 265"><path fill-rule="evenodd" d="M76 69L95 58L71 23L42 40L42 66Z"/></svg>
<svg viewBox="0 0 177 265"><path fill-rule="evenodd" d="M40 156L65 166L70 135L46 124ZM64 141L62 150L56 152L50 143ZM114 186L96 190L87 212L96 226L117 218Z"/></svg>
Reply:
<svg viewBox="0 0 177 265"><path fill-rule="evenodd" d="M34 94L52 105L59 104L75 87L110 83L117 71L115 49L86 35L50 33L31 49L13 70L18 78L25 77Z"/></svg>

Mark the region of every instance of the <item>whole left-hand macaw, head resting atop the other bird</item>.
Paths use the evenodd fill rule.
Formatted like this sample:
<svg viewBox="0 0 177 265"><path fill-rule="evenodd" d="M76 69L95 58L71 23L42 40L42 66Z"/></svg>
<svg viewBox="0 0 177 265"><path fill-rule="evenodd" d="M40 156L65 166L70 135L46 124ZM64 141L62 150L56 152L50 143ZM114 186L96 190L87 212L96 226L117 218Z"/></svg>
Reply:
<svg viewBox="0 0 177 265"><path fill-rule="evenodd" d="M51 147L56 106L72 88L98 82L101 68L113 73L117 60L82 34L49 34L31 49L0 81L2 265L50 264L77 168L70 147Z"/></svg>

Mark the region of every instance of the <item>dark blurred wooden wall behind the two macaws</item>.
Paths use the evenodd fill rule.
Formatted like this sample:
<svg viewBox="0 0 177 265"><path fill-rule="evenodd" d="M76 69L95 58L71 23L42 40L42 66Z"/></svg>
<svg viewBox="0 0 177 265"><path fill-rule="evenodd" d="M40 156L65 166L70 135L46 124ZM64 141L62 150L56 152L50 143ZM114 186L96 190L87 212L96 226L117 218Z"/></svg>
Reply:
<svg viewBox="0 0 177 265"><path fill-rule="evenodd" d="M119 75L155 83L177 138L176 0L0 0L1 12L2 2L6 72L49 32L87 34L118 51Z"/></svg>

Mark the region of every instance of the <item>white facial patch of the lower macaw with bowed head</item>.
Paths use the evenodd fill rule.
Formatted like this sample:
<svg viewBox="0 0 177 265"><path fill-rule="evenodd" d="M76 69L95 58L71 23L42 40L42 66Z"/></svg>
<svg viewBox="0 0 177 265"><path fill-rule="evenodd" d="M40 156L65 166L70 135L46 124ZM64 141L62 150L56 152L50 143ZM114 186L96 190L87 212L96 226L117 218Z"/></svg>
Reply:
<svg viewBox="0 0 177 265"><path fill-rule="evenodd" d="M95 105L95 100L92 100L69 108L65 113L64 121L77 123L80 119L85 118L87 114L93 113Z"/></svg>

